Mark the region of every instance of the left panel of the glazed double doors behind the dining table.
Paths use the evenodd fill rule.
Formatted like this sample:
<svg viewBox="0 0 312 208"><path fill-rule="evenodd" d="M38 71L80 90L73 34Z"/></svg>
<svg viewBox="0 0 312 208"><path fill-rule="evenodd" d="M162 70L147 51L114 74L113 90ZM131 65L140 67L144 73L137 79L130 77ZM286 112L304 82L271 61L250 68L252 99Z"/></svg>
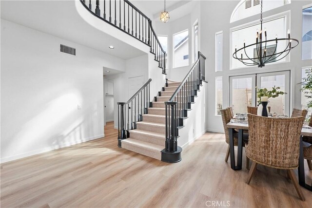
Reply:
<svg viewBox="0 0 312 208"><path fill-rule="evenodd" d="M229 106L235 113L246 113L247 106L255 106L256 75L230 76Z"/></svg>

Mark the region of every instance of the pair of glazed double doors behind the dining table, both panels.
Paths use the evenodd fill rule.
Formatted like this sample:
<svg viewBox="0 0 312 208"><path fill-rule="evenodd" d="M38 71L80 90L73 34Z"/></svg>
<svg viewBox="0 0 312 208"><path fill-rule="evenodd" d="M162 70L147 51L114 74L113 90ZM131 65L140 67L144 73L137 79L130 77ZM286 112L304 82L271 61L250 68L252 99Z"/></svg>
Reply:
<svg viewBox="0 0 312 208"><path fill-rule="evenodd" d="M280 87L286 94L269 99L271 113L290 115L290 71L230 76L229 106L234 113L247 112L247 106L257 106L256 88Z"/></svg>

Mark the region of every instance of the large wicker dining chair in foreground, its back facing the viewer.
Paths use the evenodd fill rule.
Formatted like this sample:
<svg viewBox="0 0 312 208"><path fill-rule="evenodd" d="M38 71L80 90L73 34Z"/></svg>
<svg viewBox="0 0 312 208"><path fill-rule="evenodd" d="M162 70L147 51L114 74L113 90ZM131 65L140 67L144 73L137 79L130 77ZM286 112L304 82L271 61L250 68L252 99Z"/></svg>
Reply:
<svg viewBox="0 0 312 208"><path fill-rule="evenodd" d="M246 183L249 184L258 164L287 170L302 201L304 195L293 170L298 168L300 132L304 117L271 118L248 114L249 140L246 155L253 161Z"/></svg>

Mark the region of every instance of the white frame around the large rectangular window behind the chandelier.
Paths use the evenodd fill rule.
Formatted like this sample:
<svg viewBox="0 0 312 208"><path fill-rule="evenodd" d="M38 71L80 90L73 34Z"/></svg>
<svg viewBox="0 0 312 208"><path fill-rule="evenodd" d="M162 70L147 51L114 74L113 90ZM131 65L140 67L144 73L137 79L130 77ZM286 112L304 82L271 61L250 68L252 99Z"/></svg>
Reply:
<svg viewBox="0 0 312 208"><path fill-rule="evenodd" d="M266 17L266 18L263 19L263 22L272 21L274 19L279 19L279 18L284 18L284 17L286 18L286 31L287 31L288 29L291 28L291 23L290 23L291 11L290 10L287 10L287 11L281 12L279 14L275 14L275 15ZM230 54L229 54L229 58L230 58L229 64L230 64L230 66L229 66L229 69L231 71L232 70L237 70L237 69L247 69L247 68L257 68L258 67L258 66L255 65L255 66L244 66L244 67L232 68L233 53L234 53L234 50L232 49L232 33L233 33L233 31L240 30L240 29L243 29L243 28L246 28L246 27L251 27L251 26L254 26L254 25L257 25L257 24L259 24L259 20L254 20L254 21L251 21L251 22L248 22L248 23L241 24L239 26L235 26L235 27L230 28ZM253 34L251 34L251 35L253 35ZM286 33L285 33L285 37L286 37ZM281 37L281 38L283 38L283 37ZM266 65L282 64L282 63L288 63L290 61L291 61L290 60L290 54L288 54L286 56L286 60L285 61L267 63Z"/></svg>

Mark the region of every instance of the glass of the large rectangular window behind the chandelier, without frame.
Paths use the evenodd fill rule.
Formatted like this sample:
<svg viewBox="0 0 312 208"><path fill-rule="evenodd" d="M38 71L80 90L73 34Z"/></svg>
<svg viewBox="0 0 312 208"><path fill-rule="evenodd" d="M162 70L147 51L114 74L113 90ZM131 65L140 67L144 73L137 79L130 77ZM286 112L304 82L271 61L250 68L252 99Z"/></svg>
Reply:
<svg viewBox="0 0 312 208"><path fill-rule="evenodd" d="M287 34L287 18L281 17L278 19L272 19L269 21L266 21L263 23L263 27L265 27L268 31L267 39L275 39L275 36L277 37L285 37ZM236 29L232 31L232 52L235 51L235 46L237 48L243 47L244 40L246 41L246 45L255 43L255 34L256 30L260 29L260 24L255 24L249 27L244 27L240 29ZM264 29L264 28L263 28ZM272 31L272 32L270 32ZM283 51L286 47L287 42L281 41L277 44L276 51ZM267 54L273 53L275 49L275 44L267 46ZM263 49L264 50L264 49ZM257 57L255 46L254 48L249 47L246 48L246 53L249 56ZM272 59L271 62L275 62L276 59ZM288 60L288 57L284 57L281 60L277 62L285 62ZM241 63L239 60L231 58L232 61L232 69L246 67L243 63Z"/></svg>

